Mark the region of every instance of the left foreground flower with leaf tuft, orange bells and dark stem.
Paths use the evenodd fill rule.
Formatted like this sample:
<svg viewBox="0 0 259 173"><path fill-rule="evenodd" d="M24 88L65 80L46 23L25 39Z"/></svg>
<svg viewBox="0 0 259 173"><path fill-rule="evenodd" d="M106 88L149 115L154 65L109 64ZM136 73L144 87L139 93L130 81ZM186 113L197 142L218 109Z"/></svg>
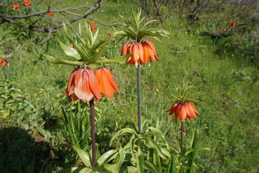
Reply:
<svg viewBox="0 0 259 173"><path fill-rule="evenodd" d="M111 59L103 58L101 56L104 51L106 42L111 41L111 39L107 40L107 37L105 37L103 42L94 44L99 29L97 29L96 33L93 35L91 27L88 26L86 22L88 42L85 42L81 37L81 24L79 23L79 34L75 32L75 30L70 24L68 24L77 36L77 38L79 39L79 46L73 39L71 39L71 37L69 37L66 26L64 23L63 25L66 38L71 42L73 48L70 46L66 46L64 43L60 42L60 40L58 40L58 42L62 47L63 51L66 53L66 55L77 59L77 61L58 60L54 57L45 54L43 55L51 63L77 66L72 71L69 77L68 86L63 96L69 95L73 102L78 98L79 101L82 100L85 103L90 103L92 133L92 167L96 167L94 98L97 102L99 102L101 94L106 95L110 99L113 98L115 90L120 94L119 87L113 79L110 70L106 66L108 64L124 63L132 54L127 54L121 57L114 57ZM82 65L83 67L80 67ZM93 69L95 70L95 72L93 71ZM66 122L68 123L67 120ZM70 131L70 135L72 135L72 131ZM77 135L75 136L75 140L73 142L78 143Z"/></svg>

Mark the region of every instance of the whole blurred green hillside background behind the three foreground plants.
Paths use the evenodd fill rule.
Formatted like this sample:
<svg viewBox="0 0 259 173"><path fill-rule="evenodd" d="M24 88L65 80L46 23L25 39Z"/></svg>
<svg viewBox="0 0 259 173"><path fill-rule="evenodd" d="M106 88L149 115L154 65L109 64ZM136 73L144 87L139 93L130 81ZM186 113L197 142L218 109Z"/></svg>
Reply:
<svg viewBox="0 0 259 173"><path fill-rule="evenodd" d="M59 7L84 3L63 0ZM11 4L1 1L0 13L14 13ZM170 39L162 38L162 43L148 38L155 44L161 62L141 68L143 119L153 116L155 124L157 116L163 117L164 126L173 122L174 117L164 110L175 101L171 96L175 94L174 82L188 80L189 85L195 85L196 92L205 90L196 98L205 100L201 103L203 107L197 108L201 115L186 121L184 129L185 145L189 145L192 132L197 130L197 147L211 148L197 152L196 159L206 167L199 167L198 172L258 172L258 1L141 0L133 4L135 9L141 6L147 18L161 20L162 28L172 33ZM94 12L90 17L112 24L113 16L119 19L118 12L131 18L129 7L129 1L110 0L102 4L103 12ZM44 9L43 4L35 10ZM65 18L55 13L41 25L62 21ZM84 25L85 19L73 26L79 22ZM228 25L229 22L237 22L238 26ZM95 27L100 28L98 40L113 31L99 23ZM71 29L68 32L73 37ZM60 29L49 42L30 46L37 34L18 25L0 25L0 55L13 53L8 58L8 69L5 68L7 81L3 68L0 70L0 172L59 172L83 165L68 148L52 148L61 143L77 144L89 128L88 106L62 97L73 67L51 64L41 54L71 58L64 54L56 39L67 45L68 40ZM82 34L86 37L84 28ZM47 33L38 35L39 40L45 37ZM118 43L119 39L115 37L106 46L105 57L120 55L126 39ZM121 95L115 93L113 100L104 97L95 104L96 142L101 154L128 140L117 139L109 147L111 137L124 123L129 120L137 123L138 117L136 67L128 68L126 64L108 67ZM180 125L180 121L173 122L167 137L174 148L179 147ZM88 151L90 140L85 138L78 146Z"/></svg>

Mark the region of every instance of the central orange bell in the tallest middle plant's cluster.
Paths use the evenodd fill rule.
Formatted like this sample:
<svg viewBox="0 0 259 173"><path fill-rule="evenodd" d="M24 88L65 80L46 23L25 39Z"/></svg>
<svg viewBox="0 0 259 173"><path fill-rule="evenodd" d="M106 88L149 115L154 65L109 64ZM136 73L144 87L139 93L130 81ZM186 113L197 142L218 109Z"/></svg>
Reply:
<svg viewBox="0 0 259 173"><path fill-rule="evenodd" d="M142 65L144 64L144 50L140 42L134 42L130 45L129 53L132 53L131 57L127 59L126 64ZM128 52L127 52L128 54Z"/></svg>

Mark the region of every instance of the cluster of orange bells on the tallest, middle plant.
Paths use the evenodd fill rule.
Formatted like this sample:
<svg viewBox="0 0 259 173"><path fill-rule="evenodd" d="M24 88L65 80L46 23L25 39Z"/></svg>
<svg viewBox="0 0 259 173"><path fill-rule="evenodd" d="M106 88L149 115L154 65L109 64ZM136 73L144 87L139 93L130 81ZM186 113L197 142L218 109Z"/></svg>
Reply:
<svg viewBox="0 0 259 173"><path fill-rule="evenodd" d="M132 53L132 56L127 59L126 64L130 65L142 65L147 64L150 66L150 62L158 60L157 53L154 44L150 40L143 40L140 42L126 42L121 49L121 56Z"/></svg>

